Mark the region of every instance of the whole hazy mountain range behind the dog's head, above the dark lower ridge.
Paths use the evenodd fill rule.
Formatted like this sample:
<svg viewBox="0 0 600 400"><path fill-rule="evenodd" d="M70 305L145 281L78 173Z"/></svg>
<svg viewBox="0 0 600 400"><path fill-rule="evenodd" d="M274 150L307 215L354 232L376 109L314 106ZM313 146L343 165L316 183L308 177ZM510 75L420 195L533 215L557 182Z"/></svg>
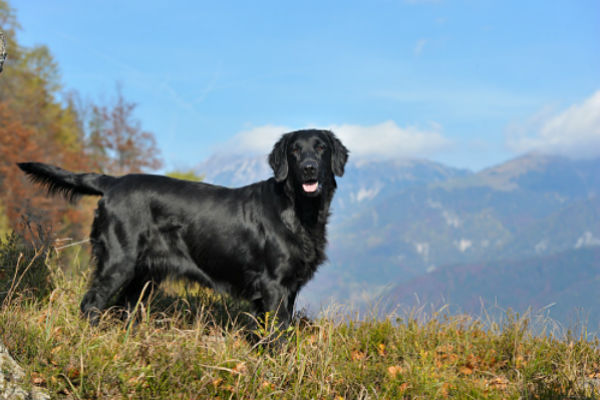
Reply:
<svg viewBox="0 0 600 400"><path fill-rule="evenodd" d="M266 157L214 158L200 170L226 186L271 175ZM600 159L527 154L478 173L427 160L350 163L338 179L329 261L302 304L361 305L451 265L600 246L599 188Z"/></svg>

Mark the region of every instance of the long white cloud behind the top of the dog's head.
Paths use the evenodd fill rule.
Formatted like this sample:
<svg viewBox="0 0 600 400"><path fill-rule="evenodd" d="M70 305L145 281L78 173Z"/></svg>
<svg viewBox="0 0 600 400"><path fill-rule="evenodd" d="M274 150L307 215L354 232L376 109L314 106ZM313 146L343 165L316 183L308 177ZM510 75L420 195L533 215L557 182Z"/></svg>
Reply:
<svg viewBox="0 0 600 400"><path fill-rule="evenodd" d="M447 148L451 143L443 136L441 126L436 123L430 123L426 129L400 127L394 121L377 125L344 124L321 128L332 130L350 150L354 161L424 157ZM294 129L278 125L258 126L238 133L220 151L267 154L283 133L292 130Z"/></svg>

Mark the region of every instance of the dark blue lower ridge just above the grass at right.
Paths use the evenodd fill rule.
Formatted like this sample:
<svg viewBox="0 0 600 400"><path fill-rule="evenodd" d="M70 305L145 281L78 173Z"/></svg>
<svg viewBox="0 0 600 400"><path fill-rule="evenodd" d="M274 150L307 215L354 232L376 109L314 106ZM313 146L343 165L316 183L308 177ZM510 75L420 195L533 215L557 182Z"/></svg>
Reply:
<svg viewBox="0 0 600 400"><path fill-rule="evenodd" d="M453 265L395 285L380 298L383 310L396 307L449 306L453 312L480 315L511 308L531 309L565 327L587 323L600 328L600 247L556 254ZM418 299L418 300L417 300Z"/></svg>

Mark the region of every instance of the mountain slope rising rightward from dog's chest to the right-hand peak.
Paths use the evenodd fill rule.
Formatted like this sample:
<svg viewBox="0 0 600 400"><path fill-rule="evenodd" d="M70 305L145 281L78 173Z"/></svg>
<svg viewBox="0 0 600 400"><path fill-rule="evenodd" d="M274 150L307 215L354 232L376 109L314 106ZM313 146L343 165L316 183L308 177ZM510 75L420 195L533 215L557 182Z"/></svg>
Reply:
<svg viewBox="0 0 600 400"><path fill-rule="evenodd" d="M358 290L368 297L444 265L598 243L599 176L600 160L531 154L477 174L392 190L332 224L329 255L338 280L319 291L345 299Z"/></svg>

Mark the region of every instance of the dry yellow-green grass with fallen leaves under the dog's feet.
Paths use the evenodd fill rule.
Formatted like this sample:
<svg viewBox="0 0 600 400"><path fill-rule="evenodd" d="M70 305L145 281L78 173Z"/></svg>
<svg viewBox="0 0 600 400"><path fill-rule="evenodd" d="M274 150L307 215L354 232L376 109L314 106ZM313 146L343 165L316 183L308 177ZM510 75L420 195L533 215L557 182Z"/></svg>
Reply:
<svg viewBox="0 0 600 400"><path fill-rule="evenodd" d="M577 337L534 335L529 316L508 312L493 321L415 311L359 320L338 311L298 318L288 340L269 347L266 337L274 329L269 323L264 341L246 340L243 304L170 283L126 320L109 312L99 327L90 327L79 316L88 272L78 257L72 263L43 249L25 254L16 244L3 245L5 259L31 265L29 271L44 278L9 285L0 309L0 340L28 381L53 398L600 396L598 340L585 331ZM19 279L14 268L0 268ZM50 290L40 290L40 284Z"/></svg>

